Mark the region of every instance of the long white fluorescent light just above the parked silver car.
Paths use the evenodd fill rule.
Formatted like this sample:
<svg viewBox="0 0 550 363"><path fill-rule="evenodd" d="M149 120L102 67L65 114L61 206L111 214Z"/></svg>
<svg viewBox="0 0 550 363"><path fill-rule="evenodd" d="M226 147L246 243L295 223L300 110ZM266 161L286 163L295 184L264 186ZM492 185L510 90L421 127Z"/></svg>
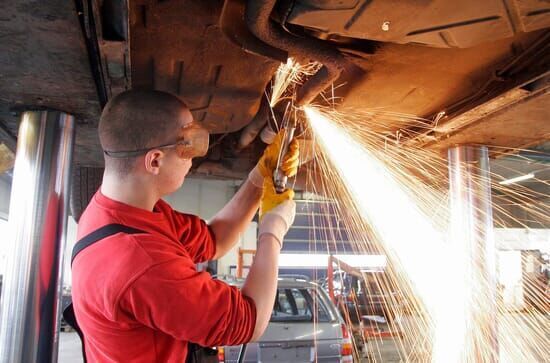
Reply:
<svg viewBox="0 0 550 363"><path fill-rule="evenodd" d="M279 256L279 267L294 268L327 268L328 256L325 254L283 253ZM350 266L364 269L381 269L386 267L384 255L334 255Z"/></svg>

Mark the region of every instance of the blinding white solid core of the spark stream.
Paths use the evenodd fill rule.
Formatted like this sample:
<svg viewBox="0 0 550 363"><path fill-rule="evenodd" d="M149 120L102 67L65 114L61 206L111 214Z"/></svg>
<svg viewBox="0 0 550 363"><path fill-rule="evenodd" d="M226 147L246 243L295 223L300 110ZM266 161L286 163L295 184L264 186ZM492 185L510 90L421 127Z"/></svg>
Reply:
<svg viewBox="0 0 550 363"><path fill-rule="evenodd" d="M457 258L459 251L441 243L443 231L417 207L412 191L402 187L377 155L322 113L311 108L305 112L316 141L335 166L359 215L376 229L390 259L399 261L426 305L437 342L435 355L444 351L448 362L460 361L466 327L457 312L465 304L466 287L460 282L463 258Z"/></svg>

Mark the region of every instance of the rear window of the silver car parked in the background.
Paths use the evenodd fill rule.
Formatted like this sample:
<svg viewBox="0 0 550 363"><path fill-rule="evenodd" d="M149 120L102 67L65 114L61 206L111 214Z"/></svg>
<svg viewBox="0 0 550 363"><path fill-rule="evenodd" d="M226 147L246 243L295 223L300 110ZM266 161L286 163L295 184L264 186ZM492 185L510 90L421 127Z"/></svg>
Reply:
<svg viewBox="0 0 550 363"><path fill-rule="evenodd" d="M279 288L271 321L329 322L330 315L314 289Z"/></svg>

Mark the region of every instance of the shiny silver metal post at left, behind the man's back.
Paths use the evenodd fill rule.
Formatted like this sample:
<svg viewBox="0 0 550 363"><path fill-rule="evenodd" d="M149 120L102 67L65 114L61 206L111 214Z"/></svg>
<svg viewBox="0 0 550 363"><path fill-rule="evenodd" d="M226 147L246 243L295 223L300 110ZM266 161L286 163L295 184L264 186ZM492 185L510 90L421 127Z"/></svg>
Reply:
<svg viewBox="0 0 550 363"><path fill-rule="evenodd" d="M74 118L24 112L9 214L0 312L0 362L57 361Z"/></svg>

